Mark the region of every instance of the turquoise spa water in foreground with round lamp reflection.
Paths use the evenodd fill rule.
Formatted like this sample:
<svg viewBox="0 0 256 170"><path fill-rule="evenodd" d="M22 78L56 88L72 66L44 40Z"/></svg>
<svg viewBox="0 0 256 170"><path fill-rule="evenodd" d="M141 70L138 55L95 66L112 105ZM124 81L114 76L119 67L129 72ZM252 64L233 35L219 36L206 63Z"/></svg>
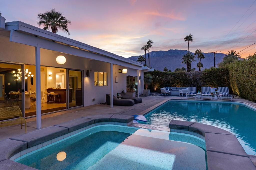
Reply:
<svg viewBox="0 0 256 170"><path fill-rule="evenodd" d="M20 159L37 169L206 169L205 142L191 135L100 125Z"/></svg>

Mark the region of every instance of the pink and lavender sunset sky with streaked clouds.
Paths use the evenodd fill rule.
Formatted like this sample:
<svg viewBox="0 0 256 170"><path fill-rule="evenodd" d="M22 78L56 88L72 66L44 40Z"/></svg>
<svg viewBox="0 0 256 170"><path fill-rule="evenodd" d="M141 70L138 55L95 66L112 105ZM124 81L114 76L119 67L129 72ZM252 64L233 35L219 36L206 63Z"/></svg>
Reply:
<svg viewBox="0 0 256 170"><path fill-rule="evenodd" d="M197 48L205 53L227 53L231 49L239 52L256 42L256 2L253 2L255 0L0 0L0 11L6 22L19 20L37 26L37 14L55 8L72 22L70 38L130 57L143 55L141 47L148 39L154 42L152 51L187 50L183 38L189 33L194 38L190 43L191 52ZM68 37L61 31L58 34ZM253 47L256 44L240 54ZM256 48L242 57L255 51Z"/></svg>

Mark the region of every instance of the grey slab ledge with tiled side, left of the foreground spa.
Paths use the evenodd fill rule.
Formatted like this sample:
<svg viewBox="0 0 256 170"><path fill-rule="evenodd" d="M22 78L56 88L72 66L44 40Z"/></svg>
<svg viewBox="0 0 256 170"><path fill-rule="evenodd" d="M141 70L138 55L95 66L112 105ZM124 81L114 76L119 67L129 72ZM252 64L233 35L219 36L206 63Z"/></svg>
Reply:
<svg viewBox="0 0 256 170"><path fill-rule="evenodd" d="M99 125L129 126L133 120L134 116L129 115L86 116L3 140L0 142L0 169L35 169L16 161L69 139L91 127Z"/></svg>

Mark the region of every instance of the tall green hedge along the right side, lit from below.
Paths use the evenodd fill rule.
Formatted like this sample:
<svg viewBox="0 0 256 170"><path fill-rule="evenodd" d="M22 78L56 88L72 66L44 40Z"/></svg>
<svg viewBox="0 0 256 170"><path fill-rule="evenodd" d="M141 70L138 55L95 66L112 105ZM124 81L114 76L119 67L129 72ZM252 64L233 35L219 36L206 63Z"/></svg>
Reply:
<svg viewBox="0 0 256 170"><path fill-rule="evenodd" d="M233 94L256 101L256 59L230 63L229 79Z"/></svg>

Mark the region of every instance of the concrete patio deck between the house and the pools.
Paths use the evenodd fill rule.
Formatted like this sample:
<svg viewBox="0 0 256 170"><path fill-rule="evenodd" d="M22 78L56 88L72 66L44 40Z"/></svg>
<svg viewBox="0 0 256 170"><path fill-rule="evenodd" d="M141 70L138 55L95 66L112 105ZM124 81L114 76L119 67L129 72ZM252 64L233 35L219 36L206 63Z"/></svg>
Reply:
<svg viewBox="0 0 256 170"><path fill-rule="evenodd" d="M110 108L110 106L106 104L95 104L87 107L80 107L76 109L42 115L42 128L67 122L80 117L91 116L91 115L99 115L99 114L143 115L170 99L195 100L192 98L187 99L182 96L173 97L173 96L156 96L156 95L141 97L141 98L142 98L142 103L137 103L137 104L134 104L133 106L114 106L114 108ZM204 100L208 100L208 99L204 99ZM220 99L218 100L212 99L212 101L220 101ZM222 101L230 101L230 100L222 100ZM249 100L232 99L232 102L244 102L256 108L256 103ZM36 129L36 117L27 118L26 121L27 121L27 133L38 130ZM0 141L9 139L15 136L19 136L22 134L25 134L25 129L24 128L21 129L20 125L1 127Z"/></svg>

